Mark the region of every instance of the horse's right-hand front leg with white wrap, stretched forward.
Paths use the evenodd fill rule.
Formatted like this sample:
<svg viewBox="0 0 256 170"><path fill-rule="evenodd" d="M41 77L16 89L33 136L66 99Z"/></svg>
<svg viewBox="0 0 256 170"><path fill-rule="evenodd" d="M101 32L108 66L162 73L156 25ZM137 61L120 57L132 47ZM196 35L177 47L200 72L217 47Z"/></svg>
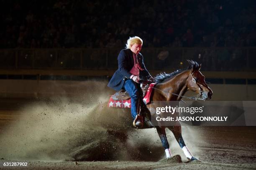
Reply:
<svg viewBox="0 0 256 170"><path fill-rule="evenodd" d="M182 131L181 131L181 126L169 126L167 127L169 130L172 131L172 133L174 134L175 139L177 140L177 142L179 143L180 148L182 148L185 156L187 157L188 160L197 160L197 158L195 158L192 153L189 151L189 149L187 148L183 138L182 138Z"/></svg>

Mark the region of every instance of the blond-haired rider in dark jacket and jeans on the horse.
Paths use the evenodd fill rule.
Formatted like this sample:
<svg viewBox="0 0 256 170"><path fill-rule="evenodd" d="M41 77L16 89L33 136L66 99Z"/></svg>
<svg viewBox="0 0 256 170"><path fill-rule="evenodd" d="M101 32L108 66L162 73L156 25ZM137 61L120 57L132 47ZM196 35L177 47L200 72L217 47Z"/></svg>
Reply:
<svg viewBox="0 0 256 170"><path fill-rule="evenodd" d="M118 70L108 83L108 87L116 91L125 89L131 96L131 115L134 119L133 125L142 127L142 117L138 115L139 104L139 80L152 80L152 76L146 69L141 53L142 39L130 37L127 40L126 49L121 50L118 55Z"/></svg>

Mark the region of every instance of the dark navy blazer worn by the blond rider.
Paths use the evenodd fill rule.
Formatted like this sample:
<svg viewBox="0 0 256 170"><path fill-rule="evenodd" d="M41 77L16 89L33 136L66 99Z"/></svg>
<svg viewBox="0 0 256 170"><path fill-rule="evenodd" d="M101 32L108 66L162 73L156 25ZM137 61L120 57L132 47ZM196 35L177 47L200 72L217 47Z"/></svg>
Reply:
<svg viewBox="0 0 256 170"><path fill-rule="evenodd" d="M151 77L144 65L143 56L141 55L141 53L138 53L137 56L139 65L141 66L141 68L143 68L142 71L140 70L140 78L146 79L148 77ZM130 79L132 75L130 71L133 68L133 65L133 52L130 49L121 50L118 55L118 70L115 71L114 75L109 81L108 87L113 88L116 91L121 90L125 79Z"/></svg>

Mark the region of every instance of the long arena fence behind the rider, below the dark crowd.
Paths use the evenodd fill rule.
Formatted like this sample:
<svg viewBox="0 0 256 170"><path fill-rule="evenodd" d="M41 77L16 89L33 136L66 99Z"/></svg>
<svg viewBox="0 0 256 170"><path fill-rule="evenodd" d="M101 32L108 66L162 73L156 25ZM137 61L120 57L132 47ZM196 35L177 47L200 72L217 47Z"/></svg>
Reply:
<svg viewBox="0 0 256 170"><path fill-rule="evenodd" d="M0 68L14 69L110 69L118 67L120 49L4 49ZM255 71L256 47L143 48L148 70L176 70L187 59L202 63L207 71Z"/></svg>

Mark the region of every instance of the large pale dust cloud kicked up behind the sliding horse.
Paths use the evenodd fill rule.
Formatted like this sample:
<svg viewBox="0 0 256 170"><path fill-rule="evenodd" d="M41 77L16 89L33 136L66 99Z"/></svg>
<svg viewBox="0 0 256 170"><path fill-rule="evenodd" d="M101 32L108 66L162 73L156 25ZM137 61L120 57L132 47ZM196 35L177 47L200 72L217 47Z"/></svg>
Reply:
<svg viewBox="0 0 256 170"><path fill-rule="evenodd" d="M164 158L164 148L155 129L133 129L129 109L106 107L108 96L113 93L106 84L86 81L77 85L83 90L75 97L62 95L24 105L18 110L19 119L0 135L0 158L81 161ZM199 138L186 129L183 133L186 144ZM184 155L172 133L167 136L172 153Z"/></svg>

